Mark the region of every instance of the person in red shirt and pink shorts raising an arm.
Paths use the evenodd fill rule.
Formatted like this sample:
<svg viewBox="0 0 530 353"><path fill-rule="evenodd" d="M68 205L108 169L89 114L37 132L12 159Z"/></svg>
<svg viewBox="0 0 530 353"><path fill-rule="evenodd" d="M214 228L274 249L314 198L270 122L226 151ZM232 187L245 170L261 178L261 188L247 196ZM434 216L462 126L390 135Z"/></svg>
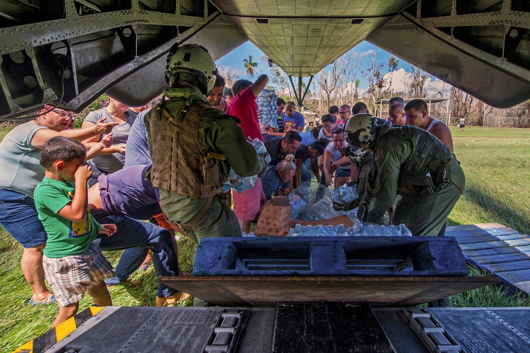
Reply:
<svg viewBox="0 0 530 353"><path fill-rule="evenodd" d="M254 83L248 80L237 80L232 86L234 99L230 104L228 114L241 120L239 125L243 129L246 138L250 141L254 138L263 141L258 119L256 97L268 82L269 76L260 75ZM250 232L252 220L258 216L262 198L265 199L265 195L260 178L256 180L255 186L252 189L244 190L241 193L232 193L232 199L234 201L233 210L243 232Z"/></svg>

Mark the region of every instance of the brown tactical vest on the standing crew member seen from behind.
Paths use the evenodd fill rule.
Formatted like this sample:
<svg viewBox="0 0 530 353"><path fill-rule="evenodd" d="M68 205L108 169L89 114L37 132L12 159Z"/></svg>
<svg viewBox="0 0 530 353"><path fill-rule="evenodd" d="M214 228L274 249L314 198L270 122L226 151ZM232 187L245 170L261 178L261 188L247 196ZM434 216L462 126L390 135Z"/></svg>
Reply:
<svg viewBox="0 0 530 353"><path fill-rule="evenodd" d="M208 109L213 108L192 102L182 112L168 112L163 101L149 112L153 187L193 199L223 192L222 184L229 171L225 156L199 143L197 136L201 117Z"/></svg>

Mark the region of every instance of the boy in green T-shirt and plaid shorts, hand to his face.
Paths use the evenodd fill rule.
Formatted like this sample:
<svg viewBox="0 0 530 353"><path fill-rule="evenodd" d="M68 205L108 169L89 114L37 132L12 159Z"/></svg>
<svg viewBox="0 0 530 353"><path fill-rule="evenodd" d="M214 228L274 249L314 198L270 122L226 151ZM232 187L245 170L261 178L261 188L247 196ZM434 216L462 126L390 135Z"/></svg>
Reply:
<svg viewBox="0 0 530 353"><path fill-rule="evenodd" d="M87 181L92 175L86 149L68 137L50 138L41 149L45 178L35 189L39 219L48 241L42 264L59 304L52 328L74 316L85 292L95 305L112 305L104 279L116 276L103 257L99 233L116 233L115 224L100 225L88 210Z"/></svg>

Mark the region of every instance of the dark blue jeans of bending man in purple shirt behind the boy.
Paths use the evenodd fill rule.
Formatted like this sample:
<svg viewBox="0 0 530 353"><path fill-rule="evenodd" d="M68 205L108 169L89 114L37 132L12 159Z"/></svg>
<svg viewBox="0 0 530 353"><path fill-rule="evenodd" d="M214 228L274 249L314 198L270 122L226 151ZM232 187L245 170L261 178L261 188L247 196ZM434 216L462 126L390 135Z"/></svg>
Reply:
<svg viewBox="0 0 530 353"><path fill-rule="evenodd" d="M169 231L152 223L139 222L136 219L120 215L107 216L98 222L101 224L114 223L118 227L118 232L112 236L105 234L98 236L101 239L101 250L143 248L144 251L147 251L147 249L151 249L156 277L179 275L179 261ZM170 297L176 292L176 289L158 282L156 296Z"/></svg>

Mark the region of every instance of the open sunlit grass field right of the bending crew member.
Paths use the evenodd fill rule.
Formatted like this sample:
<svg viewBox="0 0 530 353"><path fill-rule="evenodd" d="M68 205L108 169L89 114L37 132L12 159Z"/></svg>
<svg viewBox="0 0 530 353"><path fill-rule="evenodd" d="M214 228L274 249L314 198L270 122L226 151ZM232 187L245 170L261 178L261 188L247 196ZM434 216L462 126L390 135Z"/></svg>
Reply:
<svg viewBox="0 0 530 353"><path fill-rule="evenodd" d="M466 188L449 215L449 224L498 222L528 234L530 129L451 130Z"/></svg>

